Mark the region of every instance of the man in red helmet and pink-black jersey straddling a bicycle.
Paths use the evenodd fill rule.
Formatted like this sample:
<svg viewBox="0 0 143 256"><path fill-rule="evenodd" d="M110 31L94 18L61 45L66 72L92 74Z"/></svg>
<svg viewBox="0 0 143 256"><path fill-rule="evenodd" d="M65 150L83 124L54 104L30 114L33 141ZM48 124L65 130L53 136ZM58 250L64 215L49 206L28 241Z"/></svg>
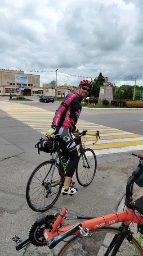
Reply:
<svg viewBox="0 0 143 256"><path fill-rule="evenodd" d="M78 163L78 153L76 143L72 138L72 133L76 130L77 119L81 112L81 101L85 98L93 85L89 80L83 80L78 86L78 92L67 94L61 105L56 110L52 126L45 136L51 137L54 134L60 134L59 145L66 149L65 156L68 164L65 174L64 186L62 187L62 195L74 195L77 188L73 188L74 182L72 177Z"/></svg>

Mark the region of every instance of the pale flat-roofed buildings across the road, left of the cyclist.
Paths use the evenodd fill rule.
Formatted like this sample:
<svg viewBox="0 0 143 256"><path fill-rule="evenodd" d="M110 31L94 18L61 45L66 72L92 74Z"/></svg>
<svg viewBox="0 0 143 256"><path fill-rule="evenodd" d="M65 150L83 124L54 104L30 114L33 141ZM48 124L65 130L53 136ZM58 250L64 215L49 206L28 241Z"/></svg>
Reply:
<svg viewBox="0 0 143 256"><path fill-rule="evenodd" d="M9 96L56 96L55 86L43 84L40 87L40 75L26 74L21 70L0 69L0 95ZM68 85L57 86L57 97L65 97L74 92Z"/></svg>

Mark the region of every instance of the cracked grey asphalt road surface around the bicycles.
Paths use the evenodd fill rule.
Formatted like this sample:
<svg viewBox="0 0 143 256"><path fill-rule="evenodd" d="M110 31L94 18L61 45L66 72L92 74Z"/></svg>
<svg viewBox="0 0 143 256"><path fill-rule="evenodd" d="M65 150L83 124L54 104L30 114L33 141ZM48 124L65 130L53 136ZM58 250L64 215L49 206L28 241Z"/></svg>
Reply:
<svg viewBox="0 0 143 256"><path fill-rule="evenodd" d="M56 102L54 104L23 102L22 104L51 111L55 111L59 105ZM143 135L140 121L142 116L143 110L83 109L80 118ZM50 251L48 247L28 245L21 251L16 251L11 239L13 234L18 234L22 239L28 238L30 227L40 215L29 209L25 199L26 184L32 170L49 157L46 153L37 155L34 145L40 136L41 133L0 110L1 256L54 256L59 250L59 246ZM127 178L139 161L128 152L98 155L97 163L97 173L90 186L80 187L75 178L78 193L74 197L60 196L54 207L46 214L58 212L63 206L67 207L68 215L72 217L98 216L117 210L125 195ZM133 198L136 199L141 195L142 189L135 186Z"/></svg>

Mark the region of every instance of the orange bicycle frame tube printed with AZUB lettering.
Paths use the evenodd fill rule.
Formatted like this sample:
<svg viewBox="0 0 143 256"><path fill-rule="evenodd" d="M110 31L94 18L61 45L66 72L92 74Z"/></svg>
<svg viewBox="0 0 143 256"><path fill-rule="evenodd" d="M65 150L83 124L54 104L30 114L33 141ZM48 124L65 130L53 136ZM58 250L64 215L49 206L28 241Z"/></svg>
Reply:
<svg viewBox="0 0 143 256"><path fill-rule="evenodd" d="M139 214L134 215L134 211L128 209L126 211L120 211L120 212L115 212L108 215L103 215L102 217L88 219L85 221L81 221L79 224L71 224L58 229L58 226L63 220L63 217L66 215L66 213L67 213L67 209L63 208L60 214L58 215L58 218L55 220L53 224L53 229L51 231L49 231L49 229L45 229L43 232L43 235L50 249L56 246L58 242L62 241L64 237L67 237L66 233L70 229L73 229L74 227L77 229L77 225L78 226L81 225L83 229L88 228L90 231L94 231L95 229L100 229L100 228L103 228L115 223L120 223L120 222L124 223L125 225L129 225L131 222L136 224L143 224L143 217ZM72 230L72 235L78 234L79 230L80 228L78 228L78 230L75 231L74 233Z"/></svg>

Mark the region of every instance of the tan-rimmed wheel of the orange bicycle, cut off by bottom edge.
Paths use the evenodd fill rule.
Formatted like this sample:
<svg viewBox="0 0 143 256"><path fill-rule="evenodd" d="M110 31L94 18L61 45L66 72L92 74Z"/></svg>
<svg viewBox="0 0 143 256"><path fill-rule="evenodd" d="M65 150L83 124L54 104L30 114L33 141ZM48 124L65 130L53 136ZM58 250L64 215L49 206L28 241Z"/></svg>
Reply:
<svg viewBox="0 0 143 256"><path fill-rule="evenodd" d="M109 227L90 232L86 239L76 235L63 246L58 256L112 256L112 251L105 253L113 237L120 233L119 229ZM125 238L116 256L143 256L143 250L137 240L133 238L132 242Z"/></svg>

